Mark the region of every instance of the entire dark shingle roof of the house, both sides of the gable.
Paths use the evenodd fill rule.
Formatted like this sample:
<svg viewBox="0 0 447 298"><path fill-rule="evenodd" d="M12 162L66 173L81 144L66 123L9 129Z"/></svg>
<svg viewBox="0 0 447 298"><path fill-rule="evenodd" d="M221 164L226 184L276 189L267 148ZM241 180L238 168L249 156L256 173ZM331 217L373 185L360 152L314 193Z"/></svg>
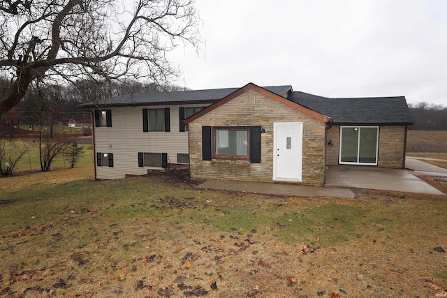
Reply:
<svg viewBox="0 0 447 298"><path fill-rule="evenodd" d="M80 107L214 103L240 88L125 94ZM327 98L292 90L290 85L263 87L274 94L330 117L335 124L411 124L404 96L374 98Z"/></svg>

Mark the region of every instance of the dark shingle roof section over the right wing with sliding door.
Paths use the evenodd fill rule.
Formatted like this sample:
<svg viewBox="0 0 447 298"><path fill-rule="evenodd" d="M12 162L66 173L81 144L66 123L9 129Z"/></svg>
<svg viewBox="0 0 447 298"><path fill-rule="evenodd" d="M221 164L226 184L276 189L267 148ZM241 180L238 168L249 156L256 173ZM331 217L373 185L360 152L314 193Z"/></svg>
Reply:
<svg viewBox="0 0 447 298"><path fill-rule="evenodd" d="M334 119L335 124L410 124L404 96L371 98L326 98L293 92L288 100Z"/></svg>

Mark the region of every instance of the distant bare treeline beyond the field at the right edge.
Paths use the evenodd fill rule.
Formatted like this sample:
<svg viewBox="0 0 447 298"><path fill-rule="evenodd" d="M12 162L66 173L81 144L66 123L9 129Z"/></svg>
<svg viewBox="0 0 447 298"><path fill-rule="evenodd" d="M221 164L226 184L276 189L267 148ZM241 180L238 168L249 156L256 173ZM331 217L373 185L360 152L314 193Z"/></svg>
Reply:
<svg viewBox="0 0 447 298"><path fill-rule="evenodd" d="M409 129L420 131L447 131L447 107L430 103L409 104L414 124Z"/></svg>

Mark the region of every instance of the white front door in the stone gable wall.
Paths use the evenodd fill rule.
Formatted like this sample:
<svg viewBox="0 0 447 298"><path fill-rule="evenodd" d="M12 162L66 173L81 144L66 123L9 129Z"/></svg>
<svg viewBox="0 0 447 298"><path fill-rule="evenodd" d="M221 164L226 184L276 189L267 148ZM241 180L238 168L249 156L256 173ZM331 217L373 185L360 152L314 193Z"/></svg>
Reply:
<svg viewBox="0 0 447 298"><path fill-rule="evenodd" d="M302 122L274 123L273 180L302 179Z"/></svg>

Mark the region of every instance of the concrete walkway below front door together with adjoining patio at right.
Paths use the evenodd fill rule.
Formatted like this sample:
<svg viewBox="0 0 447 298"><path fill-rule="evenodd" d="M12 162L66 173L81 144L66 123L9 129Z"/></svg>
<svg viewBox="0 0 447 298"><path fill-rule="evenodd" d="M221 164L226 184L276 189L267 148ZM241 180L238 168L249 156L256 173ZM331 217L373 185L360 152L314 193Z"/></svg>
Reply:
<svg viewBox="0 0 447 298"><path fill-rule="evenodd" d="M430 186L430 184L416 177L415 174L447 177L447 170L424 163L418 159L406 159L406 167L411 170L385 169L358 165L330 165L328 166L325 187L214 179L209 179L197 187L223 191L267 193L272 195L300 195L322 198L354 198L354 193L351 188L444 195L437 188Z"/></svg>

